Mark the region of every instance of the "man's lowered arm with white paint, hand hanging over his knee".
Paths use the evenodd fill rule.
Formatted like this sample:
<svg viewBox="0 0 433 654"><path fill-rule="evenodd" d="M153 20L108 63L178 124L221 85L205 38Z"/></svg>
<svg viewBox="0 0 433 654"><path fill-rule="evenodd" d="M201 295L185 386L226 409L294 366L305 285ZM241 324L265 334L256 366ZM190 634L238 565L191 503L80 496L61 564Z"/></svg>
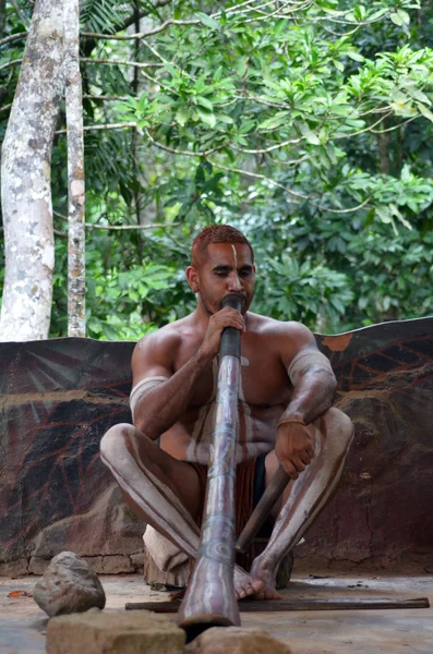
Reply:
<svg viewBox="0 0 433 654"><path fill-rule="evenodd" d="M304 425L332 407L337 382L329 361L318 351L313 334L299 324L294 327L292 324L290 331L281 360L288 370L293 392L279 419L275 451L282 468L296 480L314 456Z"/></svg>

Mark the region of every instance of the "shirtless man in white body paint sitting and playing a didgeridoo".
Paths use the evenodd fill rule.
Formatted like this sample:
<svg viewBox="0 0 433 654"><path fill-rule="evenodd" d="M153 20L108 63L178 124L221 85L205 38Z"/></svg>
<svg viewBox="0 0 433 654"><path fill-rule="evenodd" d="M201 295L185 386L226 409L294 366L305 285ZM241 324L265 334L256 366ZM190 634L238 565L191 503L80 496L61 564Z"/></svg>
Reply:
<svg viewBox="0 0 433 654"><path fill-rule="evenodd" d="M238 598L276 600L281 597L275 588L278 565L335 487L352 425L332 408L336 380L312 332L299 323L249 312L254 278L253 250L238 230L212 226L194 239L187 279L197 307L135 347L134 425L109 429L101 457L129 506L193 558L216 409L219 341L225 327L239 329L238 514L245 513L244 502L251 512L258 499L252 497L257 480L258 486L263 480L260 495L279 464L291 481L274 510L266 549L249 573L236 568L234 585ZM241 313L220 308L229 294L241 298Z"/></svg>

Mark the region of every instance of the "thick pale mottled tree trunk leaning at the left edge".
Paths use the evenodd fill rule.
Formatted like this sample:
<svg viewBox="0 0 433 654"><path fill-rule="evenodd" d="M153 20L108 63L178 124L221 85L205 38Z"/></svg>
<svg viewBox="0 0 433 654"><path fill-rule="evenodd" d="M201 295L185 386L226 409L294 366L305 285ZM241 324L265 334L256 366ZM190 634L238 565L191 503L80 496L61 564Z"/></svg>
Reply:
<svg viewBox="0 0 433 654"><path fill-rule="evenodd" d="M62 12L37 0L2 147L1 341L47 338L55 249L51 148L63 87Z"/></svg>

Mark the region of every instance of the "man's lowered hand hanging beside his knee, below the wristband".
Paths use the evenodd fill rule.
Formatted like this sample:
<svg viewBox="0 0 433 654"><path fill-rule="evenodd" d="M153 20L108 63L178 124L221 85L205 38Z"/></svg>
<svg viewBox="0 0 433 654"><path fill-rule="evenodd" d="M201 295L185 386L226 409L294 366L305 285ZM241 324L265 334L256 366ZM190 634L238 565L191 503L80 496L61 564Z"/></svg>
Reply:
<svg viewBox="0 0 433 654"><path fill-rule="evenodd" d="M278 428L275 453L292 480L299 477L314 457L314 448L306 427L289 423Z"/></svg>

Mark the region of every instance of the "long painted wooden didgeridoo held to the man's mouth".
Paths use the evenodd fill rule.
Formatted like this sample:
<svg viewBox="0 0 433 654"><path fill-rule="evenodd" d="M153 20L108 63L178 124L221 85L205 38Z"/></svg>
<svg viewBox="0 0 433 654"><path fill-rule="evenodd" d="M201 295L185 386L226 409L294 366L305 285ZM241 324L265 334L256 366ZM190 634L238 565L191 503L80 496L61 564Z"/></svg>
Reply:
<svg viewBox="0 0 433 654"><path fill-rule="evenodd" d="M221 303L241 310L237 295ZM191 642L211 627L239 626L234 591L234 485L241 332L227 327L219 347L216 417L207 470L202 536L194 570L178 611L178 625Z"/></svg>

